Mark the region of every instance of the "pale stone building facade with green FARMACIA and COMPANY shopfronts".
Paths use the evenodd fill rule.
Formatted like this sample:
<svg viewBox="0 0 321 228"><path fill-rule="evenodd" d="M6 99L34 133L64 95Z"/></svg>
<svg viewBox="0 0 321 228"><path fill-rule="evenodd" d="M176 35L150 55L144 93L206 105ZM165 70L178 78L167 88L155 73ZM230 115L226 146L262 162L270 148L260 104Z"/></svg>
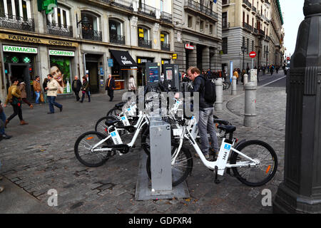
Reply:
<svg viewBox="0 0 321 228"><path fill-rule="evenodd" d="M91 93L104 91L111 74L117 89L138 86L146 62L173 63L172 1L58 0L49 14L36 0L0 0L1 79L4 100L9 79L16 76L33 96L32 80L51 73L61 95L72 94L74 76L86 76Z"/></svg>

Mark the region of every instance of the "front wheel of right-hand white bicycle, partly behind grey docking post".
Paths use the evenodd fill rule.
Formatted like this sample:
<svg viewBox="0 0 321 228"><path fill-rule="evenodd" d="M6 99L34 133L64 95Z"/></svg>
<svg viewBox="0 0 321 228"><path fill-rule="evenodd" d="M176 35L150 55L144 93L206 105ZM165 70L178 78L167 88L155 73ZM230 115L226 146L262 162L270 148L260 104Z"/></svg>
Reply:
<svg viewBox="0 0 321 228"><path fill-rule="evenodd" d="M172 155L176 150L178 150L178 144L172 144ZM175 164L172 165L172 185L177 186L186 180L192 169L193 157L190 155L190 150L182 147L176 157ZM151 156L147 158L146 170L148 177L151 179Z"/></svg>

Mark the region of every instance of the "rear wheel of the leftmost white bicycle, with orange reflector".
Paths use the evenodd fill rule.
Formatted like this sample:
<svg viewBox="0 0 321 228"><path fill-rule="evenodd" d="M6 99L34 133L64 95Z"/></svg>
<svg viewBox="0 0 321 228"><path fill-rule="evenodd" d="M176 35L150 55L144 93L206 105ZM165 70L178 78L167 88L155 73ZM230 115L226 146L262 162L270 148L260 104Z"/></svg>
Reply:
<svg viewBox="0 0 321 228"><path fill-rule="evenodd" d="M78 161L88 167L98 167L103 165L108 160L111 152L93 152L91 149L104 138L106 138L106 135L95 131L83 133L83 135L79 136L74 146L75 155ZM112 144L110 139L103 142L101 145L96 147L96 149L101 149L108 144Z"/></svg>

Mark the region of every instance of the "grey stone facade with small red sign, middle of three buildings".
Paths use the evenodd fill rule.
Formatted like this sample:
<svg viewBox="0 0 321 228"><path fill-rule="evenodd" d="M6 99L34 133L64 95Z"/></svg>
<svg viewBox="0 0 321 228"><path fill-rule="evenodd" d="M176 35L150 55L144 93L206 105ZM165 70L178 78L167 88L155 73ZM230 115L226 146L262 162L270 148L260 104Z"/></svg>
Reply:
<svg viewBox="0 0 321 228"><path fill-rule="evenodd" d="M174 45L180 71L190 66L219 70L222 50L222 1L173 1Z"/></svg>

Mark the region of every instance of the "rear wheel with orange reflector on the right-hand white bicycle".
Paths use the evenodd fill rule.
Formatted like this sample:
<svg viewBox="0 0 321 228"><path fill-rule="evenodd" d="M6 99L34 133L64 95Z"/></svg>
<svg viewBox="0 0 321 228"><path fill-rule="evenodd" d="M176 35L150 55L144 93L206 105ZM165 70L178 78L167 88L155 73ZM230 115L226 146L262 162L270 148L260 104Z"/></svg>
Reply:
<svg viewBox="0 0 321 228"><path fill-rule="evenodd" d="M235 177L245 185L257 187L265 185L274 177L277 171L277 155L273 148L266 142L260 140L245 141L238 146L238 151L251 157L253 160L260 161L256 167L233 167ZM245 157L233 152L230 164L237 162L250 162Z"/></svg>

